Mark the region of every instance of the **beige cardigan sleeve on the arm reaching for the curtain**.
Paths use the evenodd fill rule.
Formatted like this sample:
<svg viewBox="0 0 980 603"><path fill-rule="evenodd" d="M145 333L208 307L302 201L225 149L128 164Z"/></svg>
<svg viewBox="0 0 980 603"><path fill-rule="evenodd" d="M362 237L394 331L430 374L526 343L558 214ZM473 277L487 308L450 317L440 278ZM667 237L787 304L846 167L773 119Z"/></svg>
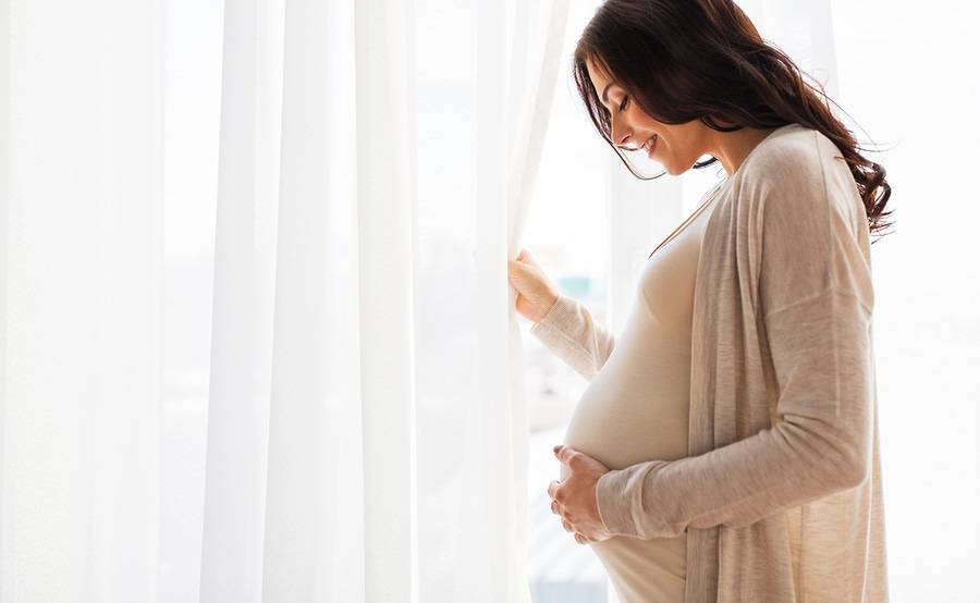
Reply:
<svg viewBox="0 0 980 603"><path fill-rule="evenodd" d="M599 372L615 346L615 336L596 322L581 303L561 294L530 333L587 381Z"/></svg>

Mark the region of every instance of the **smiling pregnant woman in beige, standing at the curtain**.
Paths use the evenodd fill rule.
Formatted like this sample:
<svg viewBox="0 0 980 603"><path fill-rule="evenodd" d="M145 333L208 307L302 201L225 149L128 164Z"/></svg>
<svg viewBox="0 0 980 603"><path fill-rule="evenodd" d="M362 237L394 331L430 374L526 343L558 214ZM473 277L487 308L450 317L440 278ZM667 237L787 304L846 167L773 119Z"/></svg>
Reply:
<svg viewBox="0 0 980 603"><path fill-rule="evenodd" d="M552 512L624 603L887 601L884 169L727 0L609 0L574 74L634 174L621 150L726 177L650 255L617 336L530 254L510 262L531 333L589 381Z"/></svg>

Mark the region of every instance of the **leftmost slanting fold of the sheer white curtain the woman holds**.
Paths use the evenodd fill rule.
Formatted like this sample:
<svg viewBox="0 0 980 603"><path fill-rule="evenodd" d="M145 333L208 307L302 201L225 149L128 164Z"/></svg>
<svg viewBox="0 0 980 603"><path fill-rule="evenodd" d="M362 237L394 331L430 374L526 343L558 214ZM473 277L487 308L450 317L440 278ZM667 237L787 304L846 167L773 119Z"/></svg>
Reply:
<svg viewBox="0 0 980 603"><path fill-rule="evenodd" d="M283 3L225 2L200 601L259 601Z"/></svg>

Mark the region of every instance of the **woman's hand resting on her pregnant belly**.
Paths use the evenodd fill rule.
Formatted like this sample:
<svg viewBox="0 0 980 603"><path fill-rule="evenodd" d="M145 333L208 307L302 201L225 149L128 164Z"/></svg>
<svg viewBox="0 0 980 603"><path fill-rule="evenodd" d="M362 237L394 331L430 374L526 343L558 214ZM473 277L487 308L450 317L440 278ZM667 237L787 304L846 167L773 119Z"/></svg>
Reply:
<svg viewBox="0 0 980 603"><path fill-rule="evenodd" d="M609 467L568 446L555 446L554 454L567 465L571 475L548 487L551 513L562 517L565 531L574 532L579 544L609 540L612 534L599 515L597 499L599 478L609 472Z"/></svg>

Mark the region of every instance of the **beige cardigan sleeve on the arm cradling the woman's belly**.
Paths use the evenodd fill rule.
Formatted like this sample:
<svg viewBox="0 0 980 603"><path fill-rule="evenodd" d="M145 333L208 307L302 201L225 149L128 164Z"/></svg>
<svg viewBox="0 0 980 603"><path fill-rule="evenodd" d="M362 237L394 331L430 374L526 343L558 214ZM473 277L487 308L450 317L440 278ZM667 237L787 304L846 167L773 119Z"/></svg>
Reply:
<svg viewBox="0 0 980 603"><path fill-rule="evenodd" d="M613 534L673 538L688 527L746 526L868 478L874 404L868 226L854 181L840 172L822 176L825 163L810 158L809 173L770 165L764 180L775 184L746 193L757 196L749 211L761 208L749 249L759 251L754 304L763 317L760 349L768 348L779 385L777 419L698 456L603 475L597 500ZM743 361L735 358L727 361Z"/></svg>

